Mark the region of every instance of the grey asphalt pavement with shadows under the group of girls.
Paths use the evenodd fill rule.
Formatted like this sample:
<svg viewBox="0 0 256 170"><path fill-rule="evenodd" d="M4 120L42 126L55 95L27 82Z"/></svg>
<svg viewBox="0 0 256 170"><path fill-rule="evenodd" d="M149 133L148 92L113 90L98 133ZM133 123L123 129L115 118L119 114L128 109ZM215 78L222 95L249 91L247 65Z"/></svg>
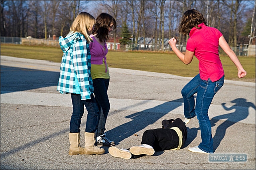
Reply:
<svg viewBox="0 0 256 170"><path fill-rule="evenodd" d="M209 109L214 154L192 153L201 142L197 118L187 124L185 146L136 159L68 155L70 95L57 89L60 63L1 56L2 169L256 169L255 83L224 81ZM185 65L184 65L185 67ZM171 68L170 68L171 69ZM106 135L116 147L140 145L147 129L183 119L181 89L192 77L109 68ZM85 131L86 111L81 132ZM81 133L81 146L85 144ZM231 159L232 157L232 159Z"/></svg>

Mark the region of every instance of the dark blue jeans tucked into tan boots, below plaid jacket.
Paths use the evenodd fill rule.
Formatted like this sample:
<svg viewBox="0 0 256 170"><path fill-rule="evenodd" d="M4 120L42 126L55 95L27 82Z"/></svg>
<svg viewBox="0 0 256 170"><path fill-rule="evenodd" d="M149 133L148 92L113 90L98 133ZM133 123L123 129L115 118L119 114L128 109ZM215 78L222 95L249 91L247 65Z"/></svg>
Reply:
<svg viewBox="0 0 256 170"><path fill-rule="evenodd" d="M70 133L80 132L81 118L84 114L84 108L87 109L87 120L85 131L89 133L94 133L97 126L98 118L98 107L93 94L91 94L91 99L81 100L80 94L71 94L71 100L73 104L73 113L70 119Z"/></svg>

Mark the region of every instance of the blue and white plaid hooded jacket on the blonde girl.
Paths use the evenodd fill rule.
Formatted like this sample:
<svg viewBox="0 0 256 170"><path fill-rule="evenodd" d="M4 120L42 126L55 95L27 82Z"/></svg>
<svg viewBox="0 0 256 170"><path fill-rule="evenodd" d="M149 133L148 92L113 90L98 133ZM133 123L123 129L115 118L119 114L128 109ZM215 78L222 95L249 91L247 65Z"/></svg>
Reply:
<svg viewBox="0 0 256 170"><path fill-rule="evenodd" d="M81 94L81 100L91 99L91 53L89 43L81 33L59 37L63 51L57 91L62 94Z"/></svg>

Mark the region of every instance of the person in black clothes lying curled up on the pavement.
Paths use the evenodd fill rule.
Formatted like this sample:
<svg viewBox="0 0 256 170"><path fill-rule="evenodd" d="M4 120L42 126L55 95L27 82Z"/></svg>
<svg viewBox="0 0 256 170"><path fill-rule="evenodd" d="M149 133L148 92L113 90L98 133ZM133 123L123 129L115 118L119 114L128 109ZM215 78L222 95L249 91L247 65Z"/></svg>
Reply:
<svg viewBox="0 0 256 170"><path fill-rule="evenodd" d="M165 150L181 149L187 140L187 127L180 119L170 119L162 121L162 128L148 129L142 135L139 146L129 149L109 147L108 152L117 158L138 158L144 155L154 155L155 152Z"/></svg>

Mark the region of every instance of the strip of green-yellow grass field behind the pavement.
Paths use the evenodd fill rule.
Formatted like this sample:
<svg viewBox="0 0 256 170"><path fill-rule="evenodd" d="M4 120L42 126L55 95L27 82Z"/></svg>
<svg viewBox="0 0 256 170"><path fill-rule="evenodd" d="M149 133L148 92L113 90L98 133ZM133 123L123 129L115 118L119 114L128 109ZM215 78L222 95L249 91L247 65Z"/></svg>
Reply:
<svg viewBox="0 0 256 170"><path fill-rule="evenodd" d="M1 55L3 56L61 62L62 54L61 49L57 47L1 44ZM238 57L244 70L247 71L246 77L242 79L237 77L236 66L228 56L221 55L220 58L226 80L255 82L255 57ZM152 71L183 77L194 77L199 73L197 58L194 57L189 65L185 65L172 52L109 51L107 62L110 68Z"/></svg>

